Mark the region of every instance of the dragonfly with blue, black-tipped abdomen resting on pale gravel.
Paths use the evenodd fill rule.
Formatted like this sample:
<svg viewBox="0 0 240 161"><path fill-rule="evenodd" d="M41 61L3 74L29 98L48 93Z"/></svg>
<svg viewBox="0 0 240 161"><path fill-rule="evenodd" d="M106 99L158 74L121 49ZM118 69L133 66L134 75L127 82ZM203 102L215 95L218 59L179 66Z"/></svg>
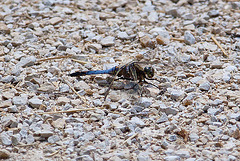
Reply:
<svg viewBox="0 0 240 161"><path fill-rule="evenodd" d="M77 72L71 73L70 76L78 77L78 76L94 75L94 74L112 75L112 79L110 81L109 87L108 87L107 91L105 92L104 101L106 100L107 95L109 94L109 91L113 85L114 80L118 80L118 79L134 81L136 83L136 85L138 86L140 95L142 95L142 88L139 85L139 83L141 83L141 82L150 84L159 89L159 87L157 85L146 81L146 80L156 80L156 81L160 82L159 80L153 78L153 76L154 76L153 67L147 66L147 67L142 68L139 65L140 63L144 63L144 62L131 61L127 64L114 66L107 70L77 71ZM116 79L117 77L118 77L118 79Z"/></svg>

